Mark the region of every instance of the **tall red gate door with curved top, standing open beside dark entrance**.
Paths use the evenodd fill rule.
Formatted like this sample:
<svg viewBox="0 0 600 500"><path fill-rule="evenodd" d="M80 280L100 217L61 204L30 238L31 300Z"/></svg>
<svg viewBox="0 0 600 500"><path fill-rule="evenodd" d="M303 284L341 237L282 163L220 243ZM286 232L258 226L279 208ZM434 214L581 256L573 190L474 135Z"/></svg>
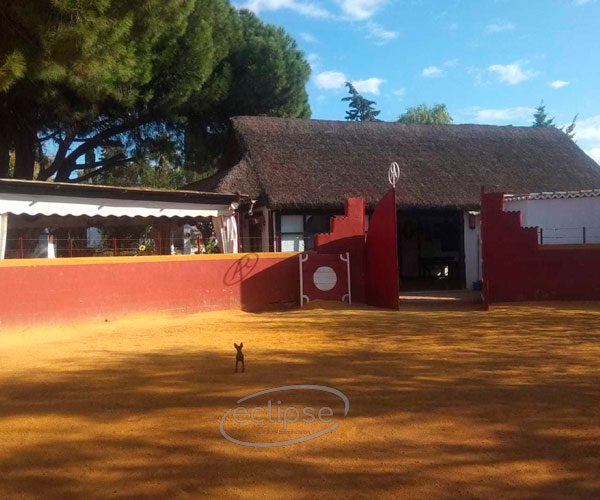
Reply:
<svg viewBox="0 0 600 500"><path fill-rule="evenodd" d="M396 190L392 188L369 219L366 252L367 304L395 310L400 294L396 217Z"/></svg>

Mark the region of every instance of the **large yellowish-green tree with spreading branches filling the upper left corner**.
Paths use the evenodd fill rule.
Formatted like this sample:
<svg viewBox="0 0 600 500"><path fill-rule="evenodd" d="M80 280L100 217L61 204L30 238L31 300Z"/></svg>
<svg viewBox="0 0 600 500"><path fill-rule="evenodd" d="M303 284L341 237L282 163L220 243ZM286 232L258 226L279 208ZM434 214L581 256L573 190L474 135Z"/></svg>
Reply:
<svg viewBox="0 0 600 500"><path fill-rule="evenodd" d="M161 70L177 55L194 4L32 0L5 6L0 136L15 150L15 176L31 178L39 143L54 140L54 162L40 177L67 180L90 149L130 130L140 110L164 97L151 83L166 76Z"/></svg>

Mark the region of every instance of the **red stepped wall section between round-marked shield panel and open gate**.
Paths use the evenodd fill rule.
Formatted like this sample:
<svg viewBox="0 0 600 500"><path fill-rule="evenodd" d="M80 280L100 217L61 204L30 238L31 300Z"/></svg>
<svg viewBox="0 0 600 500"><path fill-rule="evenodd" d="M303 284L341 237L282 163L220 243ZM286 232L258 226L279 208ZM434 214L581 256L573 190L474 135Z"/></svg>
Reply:
<svg viewBox="0 0 600 500"><path fill-rule="evenodd" d="M346 215L331 218L331 232L315 235L318 253L350 254L352 301L365 302L365 200L348 198Z"/></svg>

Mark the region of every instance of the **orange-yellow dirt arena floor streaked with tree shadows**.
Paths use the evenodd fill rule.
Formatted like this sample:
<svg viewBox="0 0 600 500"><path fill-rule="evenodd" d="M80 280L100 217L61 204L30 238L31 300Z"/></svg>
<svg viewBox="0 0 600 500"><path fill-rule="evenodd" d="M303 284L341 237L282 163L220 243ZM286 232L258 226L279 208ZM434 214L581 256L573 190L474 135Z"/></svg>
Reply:
<svg viewBox="0 0 600 500"><path fill-rule="evenodd" d="M246 372L234 374L240 341ZM342 391L348 415L338 404L337 429L295 445L224 439L219 421L239 398L293 384ZM313 307L1 332L0 499L34 498L600 498L600 305Z"/></svg>

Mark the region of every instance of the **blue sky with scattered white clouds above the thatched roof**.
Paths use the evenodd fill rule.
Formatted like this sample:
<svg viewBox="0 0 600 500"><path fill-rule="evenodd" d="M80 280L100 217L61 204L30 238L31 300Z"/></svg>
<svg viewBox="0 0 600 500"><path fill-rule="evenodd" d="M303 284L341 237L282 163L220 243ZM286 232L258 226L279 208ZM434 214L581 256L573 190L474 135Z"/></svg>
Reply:
<svg viewBox="0 0 600 500"><path fill-rule="evenodd" d="M380 118L445 103L456 123L529 125L544 100L600 162L600 0L247 0L312 66L313 118L342 120L345 80Z"/></svg>

